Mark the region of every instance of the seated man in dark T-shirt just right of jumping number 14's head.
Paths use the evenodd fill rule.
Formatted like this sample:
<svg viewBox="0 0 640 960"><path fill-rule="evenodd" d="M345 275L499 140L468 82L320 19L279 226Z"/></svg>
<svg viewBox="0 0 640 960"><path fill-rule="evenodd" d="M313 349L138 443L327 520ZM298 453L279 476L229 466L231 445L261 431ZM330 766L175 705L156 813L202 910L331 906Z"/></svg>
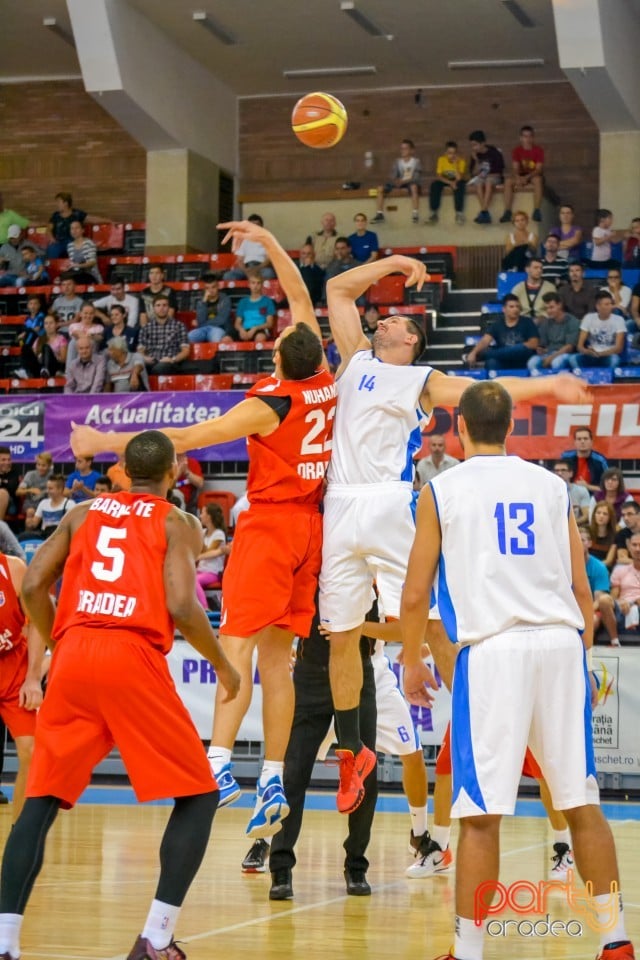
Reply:
<svg viewBox="0 0 640 960"><path fill-rule="evenodd" d="M538 328L531 317L520 316L520 301L513 293L503 298L502 310L503 316L493 321L467 355L470 367L484 359L487 370L521 370L535 356L540 343Z"/></svg>

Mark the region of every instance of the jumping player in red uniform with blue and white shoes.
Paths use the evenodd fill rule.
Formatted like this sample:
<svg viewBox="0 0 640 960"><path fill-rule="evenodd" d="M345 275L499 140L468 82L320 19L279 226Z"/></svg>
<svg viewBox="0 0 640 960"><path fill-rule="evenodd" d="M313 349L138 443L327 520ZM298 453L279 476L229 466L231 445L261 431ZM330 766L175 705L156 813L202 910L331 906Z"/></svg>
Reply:
<svg viewBox="0 0 640 960"><path fill-rule="evenodd" d="M249 239L266 248L293 317L276 340L275 372L223 416L163 431L178 452L248 438L251 507L241 514L224 576L220 641L240 671L239 697L216 709L209 759L220 803L240 789L231 773L231 751L253 693L252 655L258 648L263 692L265 762L258 781L249 836L276 833L289 812L282 785L284 755L293 720L289 658L294 635L308 636L315 610L322 524L319 503L331 452L335 384L327 371L321 331L300 273L275 237L248 221L226 223L234 244ZM226 238L225 238L226 239ZM102 434L76 427L74 450L118 453L130 433Z"/></svg>

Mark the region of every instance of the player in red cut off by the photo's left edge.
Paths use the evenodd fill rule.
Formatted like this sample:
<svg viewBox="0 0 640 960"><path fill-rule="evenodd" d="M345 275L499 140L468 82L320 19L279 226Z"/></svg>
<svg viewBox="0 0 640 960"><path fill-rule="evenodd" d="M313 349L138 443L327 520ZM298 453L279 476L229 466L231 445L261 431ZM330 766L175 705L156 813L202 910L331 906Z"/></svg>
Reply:
<svg viewBox="0 0 640 960"><path fill-rule="evenodd" d="M13 788L13 819L22 810L36 710L42 703L40 669L44 641L35 627L26 623L20 602L27 569L18 557L0 553L0 717L16 744L18 773Z"/></svg>

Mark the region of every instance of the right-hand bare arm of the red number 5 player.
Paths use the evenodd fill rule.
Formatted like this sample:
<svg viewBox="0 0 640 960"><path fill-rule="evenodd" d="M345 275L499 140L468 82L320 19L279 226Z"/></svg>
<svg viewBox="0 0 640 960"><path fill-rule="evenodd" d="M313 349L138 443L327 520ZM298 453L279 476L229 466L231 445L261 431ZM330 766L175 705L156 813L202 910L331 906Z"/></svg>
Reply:
<svg viewBox="0 0 640 960"><path fill-rule="evenodd" d="M233 700L240 689L240 675L227 660L206 613L196 598L196 558L202 545L202 529L195 517L174 509L167 516L167 553L164 586L167 608L185 640L214 667L218 680Z"/></svg>

